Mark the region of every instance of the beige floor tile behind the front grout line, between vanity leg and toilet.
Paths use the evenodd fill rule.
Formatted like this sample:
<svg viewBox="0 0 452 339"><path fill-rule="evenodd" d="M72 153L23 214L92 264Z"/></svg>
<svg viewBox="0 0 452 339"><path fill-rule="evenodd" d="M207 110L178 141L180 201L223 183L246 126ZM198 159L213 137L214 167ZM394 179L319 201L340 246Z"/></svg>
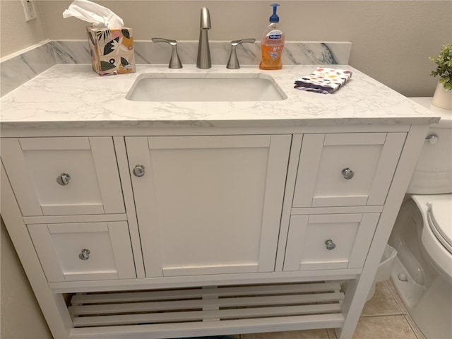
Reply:
<svg viewBox="0 0 452 339"><path fill-rule="evenodd" d="M388 316L403 314L385 282L376 283L374 296L364 305L361 316Z"/></svg>

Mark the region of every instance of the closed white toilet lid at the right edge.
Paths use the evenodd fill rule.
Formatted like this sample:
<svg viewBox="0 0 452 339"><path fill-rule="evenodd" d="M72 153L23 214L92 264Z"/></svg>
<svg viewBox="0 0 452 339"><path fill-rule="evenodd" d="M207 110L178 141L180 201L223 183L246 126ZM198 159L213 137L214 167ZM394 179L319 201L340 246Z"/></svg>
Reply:
<svg viewBox="0 0 452 339"><path fill-rule="evenodd" d="M434 201L428 204L429 225L436 239L452 254L452 204L451 201Z"/></svg>

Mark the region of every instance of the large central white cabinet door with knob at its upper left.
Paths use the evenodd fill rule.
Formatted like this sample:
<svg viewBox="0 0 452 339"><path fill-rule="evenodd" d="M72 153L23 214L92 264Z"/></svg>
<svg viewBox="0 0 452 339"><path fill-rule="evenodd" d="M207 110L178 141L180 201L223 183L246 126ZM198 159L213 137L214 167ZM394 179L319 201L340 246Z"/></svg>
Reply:
<svg viewBox="0 0 452 339"><path fill-rule="evenodd" d="M274 270L290 140L126 138L146 275Z"/></svg>

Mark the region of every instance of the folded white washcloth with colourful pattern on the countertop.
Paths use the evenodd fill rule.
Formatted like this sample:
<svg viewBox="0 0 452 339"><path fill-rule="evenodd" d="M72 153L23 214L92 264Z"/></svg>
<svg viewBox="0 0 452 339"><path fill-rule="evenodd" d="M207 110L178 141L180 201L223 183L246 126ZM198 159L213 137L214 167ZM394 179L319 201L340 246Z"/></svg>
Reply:
<svg viewBox="0 0 452 339"><path fill-rule="evenodd" d="M295 81L295 88L317 93L333 93L352 77L352 71L319 67L309 76Z"/></svg>

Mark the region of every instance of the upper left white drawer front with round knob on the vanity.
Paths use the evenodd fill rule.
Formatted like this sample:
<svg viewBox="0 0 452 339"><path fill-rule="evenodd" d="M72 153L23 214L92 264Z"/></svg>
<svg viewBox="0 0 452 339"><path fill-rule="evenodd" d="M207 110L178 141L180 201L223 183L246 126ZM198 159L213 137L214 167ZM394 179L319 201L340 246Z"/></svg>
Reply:
<svg viewBox="0 0 452 339"><path fill-rule="evenodd" d="M125 211L112 138L4 138L1 160L25 216Z"/></svg>

